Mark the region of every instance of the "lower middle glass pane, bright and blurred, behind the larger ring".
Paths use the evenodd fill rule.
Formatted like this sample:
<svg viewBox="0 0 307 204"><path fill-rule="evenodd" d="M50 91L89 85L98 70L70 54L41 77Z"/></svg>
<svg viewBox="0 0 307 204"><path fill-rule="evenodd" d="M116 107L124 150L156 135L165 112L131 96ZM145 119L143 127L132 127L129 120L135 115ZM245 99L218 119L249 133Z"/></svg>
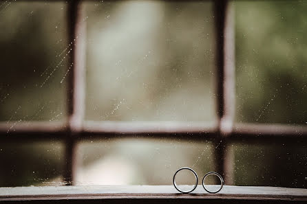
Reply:
<svg viewBox="0 0 307 204"><path fill-rule="evenodd" d="M173 185L184 166L199 177L215 170L210 142L170 139L105 139L78 146L77 185ZM194 184L190 177L178 183ZM177 181L177 180L176 180Z"/></svg>

